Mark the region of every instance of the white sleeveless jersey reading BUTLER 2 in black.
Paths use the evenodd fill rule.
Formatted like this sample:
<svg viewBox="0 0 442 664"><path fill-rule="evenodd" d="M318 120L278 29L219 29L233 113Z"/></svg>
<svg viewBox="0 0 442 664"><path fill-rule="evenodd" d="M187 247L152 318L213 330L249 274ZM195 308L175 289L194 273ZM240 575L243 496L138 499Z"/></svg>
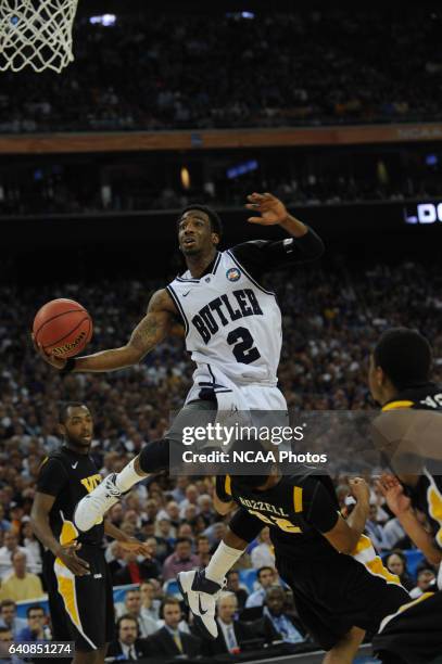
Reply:
<svg viewBox="0 0 442 664"><path fill-rule="evenodd" d="M211 273L193 279L188 270L167 291L186 327L192 359L218 368L237 384L274 386L281 352L281 312L233 256L218 252Z"/></svg>

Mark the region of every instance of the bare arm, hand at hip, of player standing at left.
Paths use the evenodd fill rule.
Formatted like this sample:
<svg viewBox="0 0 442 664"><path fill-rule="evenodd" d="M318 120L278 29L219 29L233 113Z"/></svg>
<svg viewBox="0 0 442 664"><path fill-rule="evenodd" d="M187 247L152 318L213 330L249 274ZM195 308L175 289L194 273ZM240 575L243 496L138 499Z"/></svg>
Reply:
<svg viewBox="0 0 442 664"><path fill-rule="evenodd" d="M50 549L55 558L66 565L68 570L76 576L85 576L89 574L89 563L78 558L76 551L81 548L81 545L73 542L63 547L54 537L49 525L49 512L55 502L55 497L49 494L37 491L34 498L33 510L30 512L30 524L33 531L41 541L41 544Z"/></svg>

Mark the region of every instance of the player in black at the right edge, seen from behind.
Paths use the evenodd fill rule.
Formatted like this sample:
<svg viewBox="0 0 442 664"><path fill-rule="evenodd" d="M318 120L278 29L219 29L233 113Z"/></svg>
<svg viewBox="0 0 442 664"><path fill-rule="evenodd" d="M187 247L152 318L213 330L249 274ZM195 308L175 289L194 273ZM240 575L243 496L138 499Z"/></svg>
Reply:
<svg viewBox="0 0 442 664"><path fill-rule="evenodd" d="M421 334L405 328L388 330L381 335L370 359L369 386L372 397L382 408L375 424L384 433L387 444L394 440L392 449L395 454L390 462L395 474L383 475L380 488L408 537L430 563L440 566L442 413L439 412L442 411L442 387L430 381L431 365L431 347ZM401 449L405 451L402 436L406 438L407 459L412 459L415 467L409 470L395 468L404 457L401 454ZM411 452L413 457L409 457ZM427 518L429 531L424 527L419 512ZM432 662L442 654L441 587L439 576L439 591L425 593L409 608L403 608L397 615L382 623L374 639L382 662L420 664Z"/></svg>

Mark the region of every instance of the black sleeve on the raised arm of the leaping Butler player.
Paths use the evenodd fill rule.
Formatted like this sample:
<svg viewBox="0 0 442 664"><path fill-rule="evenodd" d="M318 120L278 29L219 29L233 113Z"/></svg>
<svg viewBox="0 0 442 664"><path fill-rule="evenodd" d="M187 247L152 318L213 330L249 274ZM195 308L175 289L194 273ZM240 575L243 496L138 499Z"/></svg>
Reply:
<svg viewBox="0 0 442 664"><path fill-rule="evenodd" d="M310 228L302 238L252 240L237 244L231 253L249 274L258 281L265 272L319 258L324 253L324 243Z"/></svg>

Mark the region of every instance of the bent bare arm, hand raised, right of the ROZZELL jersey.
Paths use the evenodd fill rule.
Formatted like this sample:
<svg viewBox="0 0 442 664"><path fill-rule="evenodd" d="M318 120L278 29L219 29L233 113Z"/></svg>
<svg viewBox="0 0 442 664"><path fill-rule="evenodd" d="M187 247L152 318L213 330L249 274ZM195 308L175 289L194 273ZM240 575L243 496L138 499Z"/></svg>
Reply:
<svg viewBox="0 0 442 664"><path fill-rule="evenodd" d="M352 553L364 532L369 510L369 488L361 477L350 481L351 494L357 502L345 521L339 516L337 524L324 537L340 552Z"/></svg>

